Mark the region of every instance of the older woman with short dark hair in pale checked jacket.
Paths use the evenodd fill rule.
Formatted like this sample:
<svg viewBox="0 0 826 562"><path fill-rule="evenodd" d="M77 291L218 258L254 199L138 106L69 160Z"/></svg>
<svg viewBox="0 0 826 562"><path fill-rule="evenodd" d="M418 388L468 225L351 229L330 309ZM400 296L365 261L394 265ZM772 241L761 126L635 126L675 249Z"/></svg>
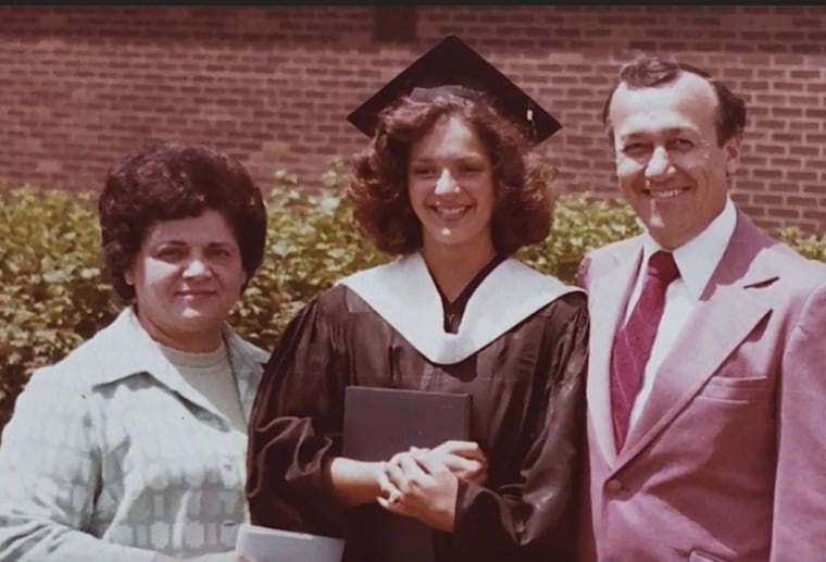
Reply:
<svg viewBox="0 0 826 562"><path fill-rule="evenodd" d="M164 142L109 174L99 211L132 304L18 397L0 447L0 560L235 560L266 355L225 320L261 264L261 191L233 159Z"/></svg>

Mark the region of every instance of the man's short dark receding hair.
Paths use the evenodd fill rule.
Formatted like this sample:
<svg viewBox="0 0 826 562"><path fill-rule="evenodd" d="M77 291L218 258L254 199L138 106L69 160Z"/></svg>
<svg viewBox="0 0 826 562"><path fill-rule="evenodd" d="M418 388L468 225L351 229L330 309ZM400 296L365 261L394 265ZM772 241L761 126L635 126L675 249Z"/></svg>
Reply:
<svg viewBox="0 0 826 562"><path fill-rule="evenodd" d="M675 82L683 73L696 74L708 82L717 96L717 114L715 128L717 145L725 145L730 138L742 135L746 128L746 102L736 96L725 84L708 72L688 63L666 61L658 57L641 57L620 68L616 85L602 107L602 124L605 126L611 148L614 148L614 129L611 124L611 101L621 84L629 89L653 88Z"/></svg>

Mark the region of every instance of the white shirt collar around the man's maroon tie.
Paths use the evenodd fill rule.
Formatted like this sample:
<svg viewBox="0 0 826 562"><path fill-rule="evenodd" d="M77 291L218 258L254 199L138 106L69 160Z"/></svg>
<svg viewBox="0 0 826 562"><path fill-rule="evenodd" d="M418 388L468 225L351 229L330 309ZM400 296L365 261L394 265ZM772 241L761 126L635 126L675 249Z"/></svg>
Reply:
<svg viewBox="0 0 826 562"><path fill-rule="evenodd" d="M723 212L709 223L700 234L674 250L674 261L686 290L694 300L700 300L714 270L723 258L728 241L737 225L737 212L731 198L726 196ZM646 230L642 235L643 263L662 247Z"/></svg>

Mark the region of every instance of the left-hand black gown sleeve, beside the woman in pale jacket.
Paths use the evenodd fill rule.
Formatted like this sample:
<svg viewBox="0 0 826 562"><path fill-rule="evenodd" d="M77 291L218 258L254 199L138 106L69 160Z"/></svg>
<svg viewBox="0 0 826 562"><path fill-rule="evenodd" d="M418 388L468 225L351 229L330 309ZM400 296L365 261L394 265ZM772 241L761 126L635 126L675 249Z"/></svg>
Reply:
<svg viewBox="0 0 826 562"><path fill-rule="evenodd" d="M250 415L247 457L246 494L255 525L342 533L343 510L323 472L325 459L341 450L347 373L343 313L336 319L337 308L330 307L330 297L343 294L334 291L292 319L264 370Z"/></svg>

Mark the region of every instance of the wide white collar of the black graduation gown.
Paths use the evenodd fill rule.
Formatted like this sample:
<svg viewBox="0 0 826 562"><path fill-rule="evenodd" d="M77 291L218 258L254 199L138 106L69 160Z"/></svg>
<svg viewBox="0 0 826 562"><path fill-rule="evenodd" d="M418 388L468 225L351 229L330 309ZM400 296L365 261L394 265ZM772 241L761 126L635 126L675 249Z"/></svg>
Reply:
<svg viewBox="0 0 826 562"><path fill-rule="evenodd" d="M358 272L338 284L437 364L467 359L542 307L580 290L508 259L471 296L459 332L448 334L439 291L421 253Z"/></svg>

